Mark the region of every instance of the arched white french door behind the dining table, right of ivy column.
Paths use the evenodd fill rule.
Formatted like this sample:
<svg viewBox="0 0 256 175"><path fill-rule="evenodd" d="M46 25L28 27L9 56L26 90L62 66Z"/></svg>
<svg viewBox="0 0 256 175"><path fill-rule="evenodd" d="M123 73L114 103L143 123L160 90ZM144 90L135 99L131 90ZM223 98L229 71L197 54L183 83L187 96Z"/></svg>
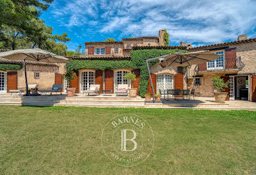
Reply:
<svg viewBox="0 0 256 175"><path fill-rule="evenodd" d="M161 74L156 76L156 94L159 94L159 90L164 91L166 89L174 88L174 77L168 74Z"/></svg>

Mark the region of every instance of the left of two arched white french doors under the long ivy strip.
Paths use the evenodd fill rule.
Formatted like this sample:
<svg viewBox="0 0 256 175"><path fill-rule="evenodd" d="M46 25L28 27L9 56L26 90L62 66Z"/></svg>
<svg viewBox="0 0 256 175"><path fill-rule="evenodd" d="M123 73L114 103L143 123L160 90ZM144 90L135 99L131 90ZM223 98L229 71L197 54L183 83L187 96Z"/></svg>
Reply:
<svg viewBox="0 0 256 175"><path fill-rule="evenodd" d="M91 84L95 84L95 72L86 71L80 74L80 91L86 91L90 89Z"/></svg>

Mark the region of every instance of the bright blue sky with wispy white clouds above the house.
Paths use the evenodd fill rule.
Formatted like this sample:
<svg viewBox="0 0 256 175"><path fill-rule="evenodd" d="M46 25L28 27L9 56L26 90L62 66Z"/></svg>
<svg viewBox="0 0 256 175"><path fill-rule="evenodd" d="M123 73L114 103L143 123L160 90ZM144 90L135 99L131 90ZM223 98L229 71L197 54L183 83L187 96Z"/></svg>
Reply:
<svg viewBox="0 0 256 175"><path fill-rule="evenodd" d="M170 45L194 46L256 37L255 0L55 0L41 18L54 34L67 32L70 50L108 37L158 36L166 28Z"/></svg>

